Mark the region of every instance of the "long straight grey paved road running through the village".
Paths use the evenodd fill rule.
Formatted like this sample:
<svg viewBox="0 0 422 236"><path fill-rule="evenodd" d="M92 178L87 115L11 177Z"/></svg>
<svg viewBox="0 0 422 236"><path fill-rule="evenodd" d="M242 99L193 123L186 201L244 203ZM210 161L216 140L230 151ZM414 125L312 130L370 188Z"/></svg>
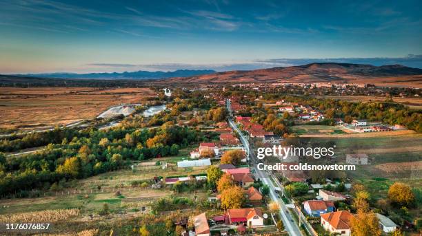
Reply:
<svg viewBox="0 0 422 236"><path fill-rule="evenodd" d="M226 105L227 105L227 109L230 113L230 115L232 114L232 109L231 109L231 104L230 104L230 100L226 100ZM272 180L270 179L270 176L268 175L268 173L266 173L265 171L260 171L257 168L257 163L258 162L258 158L255 156L254 152L252 150L250 150L250 145L249 145L249 141L248 138L246 138L243 133L241 132L241 130L237 127L237 125L233 122L232 118L229 118L228 120L230 126L232 127L232 129L234 129L235 131L237 131L237 133L239 133L239 137L240 140L243 144L243 146L245 147L246 153L248 153L248 160L250 159L250 161L253 163L253 167L256 171L256 175L257 177L264 183L267 184L268 186L270 186L270 197L274 202L278 202L279 206L280 206L280 215L281 215L281 219L283 220L283 224L285 226L285 230L288 231L289 235L293 235L293 236L302 236L303 234L301 233L301 230L299 229L299 226L297 226L297 224L294 223L294 220L292 218L292 216L290 215L290 212L288 211L288 208L285 206L283 200L281 200L280 198L278 198L277 196L279 196L278 193L274 192L274 184L272 182Z"/></svg>

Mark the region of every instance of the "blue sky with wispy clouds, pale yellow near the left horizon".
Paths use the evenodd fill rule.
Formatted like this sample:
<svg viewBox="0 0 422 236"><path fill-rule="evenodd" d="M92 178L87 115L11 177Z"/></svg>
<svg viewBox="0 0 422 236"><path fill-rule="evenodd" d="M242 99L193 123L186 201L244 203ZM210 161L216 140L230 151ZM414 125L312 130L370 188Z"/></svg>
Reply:
<svg viewBox="0 0 422 236"><path fill-rule="evenodd" d="M422 1L0 1L0 74L422 68Z"/></svg>

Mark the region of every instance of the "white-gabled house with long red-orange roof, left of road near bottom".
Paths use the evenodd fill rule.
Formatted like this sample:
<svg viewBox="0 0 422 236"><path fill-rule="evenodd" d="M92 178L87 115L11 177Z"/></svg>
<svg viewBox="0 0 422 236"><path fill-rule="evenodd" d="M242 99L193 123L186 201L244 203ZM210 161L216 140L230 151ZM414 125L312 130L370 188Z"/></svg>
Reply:
<svg viewBox="0 0 422 236"><path fill-rule="evenodd" d="M227 210L229 224L263 226L263 214L259 208L240 208Z"/></svg>

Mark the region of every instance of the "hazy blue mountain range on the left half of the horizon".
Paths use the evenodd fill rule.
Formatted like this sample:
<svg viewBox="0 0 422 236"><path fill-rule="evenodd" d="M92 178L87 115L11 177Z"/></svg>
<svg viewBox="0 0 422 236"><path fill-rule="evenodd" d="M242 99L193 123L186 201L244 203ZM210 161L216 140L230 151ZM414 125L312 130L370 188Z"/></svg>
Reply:
<svg viewBox="0 0 422 236"><path fill-rule="evenodd" d="M177 69L174 72L148 72L139 70L137 72L123 72L123 73L88 73L88 74L74 74L74 73L49 73L49 74L13 74L12 76L20 77L37 77L37 78L77 78L77 79L159 79L172 77L188 77L200 76L203 74L215 73L211 69Z"/></svg>

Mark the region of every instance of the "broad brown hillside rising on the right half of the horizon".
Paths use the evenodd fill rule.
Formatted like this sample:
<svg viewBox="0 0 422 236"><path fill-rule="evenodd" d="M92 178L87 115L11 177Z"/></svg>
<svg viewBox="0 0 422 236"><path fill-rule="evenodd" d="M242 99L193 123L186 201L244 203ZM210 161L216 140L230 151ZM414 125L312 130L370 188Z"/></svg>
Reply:
<svg viewBox="0 0 422 236"><path fill-rule="evenodd" d="M374 83L390 86L422 87L422 69L403 65L363 65L311 63L252 71L230 71L171 78L172 83Z"/></svg>

